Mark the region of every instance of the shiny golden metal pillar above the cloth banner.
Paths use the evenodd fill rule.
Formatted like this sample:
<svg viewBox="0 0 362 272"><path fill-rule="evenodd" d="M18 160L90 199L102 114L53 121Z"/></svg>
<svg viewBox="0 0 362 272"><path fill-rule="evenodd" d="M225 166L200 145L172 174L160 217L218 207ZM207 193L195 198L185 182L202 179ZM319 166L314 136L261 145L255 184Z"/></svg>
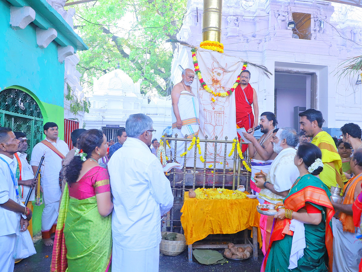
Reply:
<svg viewBox="0 0 362 272"><path fill-rule="evenodd" d="M221 42L222 0L203 0L202 41Z"/></svg>

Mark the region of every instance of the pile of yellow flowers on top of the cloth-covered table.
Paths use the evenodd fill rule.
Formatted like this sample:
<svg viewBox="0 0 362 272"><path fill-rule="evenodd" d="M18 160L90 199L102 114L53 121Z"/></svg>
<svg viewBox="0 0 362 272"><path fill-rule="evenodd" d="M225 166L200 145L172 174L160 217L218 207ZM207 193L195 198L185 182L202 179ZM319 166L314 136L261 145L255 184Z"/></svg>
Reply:
<svg viewBox="0 0 362 272"><path fill-rule="evenodd" d="M246 194L239 190L222 188L197 188L195 190L197 199L245 199Z"/></svg>

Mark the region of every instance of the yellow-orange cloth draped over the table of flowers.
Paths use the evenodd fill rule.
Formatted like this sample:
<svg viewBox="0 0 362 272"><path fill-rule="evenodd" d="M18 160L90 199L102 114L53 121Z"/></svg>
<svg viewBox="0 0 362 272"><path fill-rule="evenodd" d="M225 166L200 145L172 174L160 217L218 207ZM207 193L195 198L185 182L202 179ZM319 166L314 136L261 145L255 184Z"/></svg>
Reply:
<svg viewBox="0 0 362 272"><path fill-rule="evenodd" d="M181 208L181 224L186 243L193 244L209 234L233 234L246 228L259 228L260 214L256 210L257 199L197 199L184 194Z"/></svg>

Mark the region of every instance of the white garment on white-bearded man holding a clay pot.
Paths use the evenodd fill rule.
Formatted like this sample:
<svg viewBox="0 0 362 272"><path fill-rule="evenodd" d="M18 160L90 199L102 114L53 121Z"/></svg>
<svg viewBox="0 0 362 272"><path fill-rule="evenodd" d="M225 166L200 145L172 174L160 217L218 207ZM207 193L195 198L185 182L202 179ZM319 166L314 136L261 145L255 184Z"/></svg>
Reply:
<svg viewBox="0 0 362 272"><path fill-rule="evenodd" d="M274 185L275 191L289 190L299 177L299 170L294 165L295 154L296 150L294 148L285 148L271 163L266 181ZM259 197L274 204L283 201L285 198L266 188L260 190Z"/></svg>

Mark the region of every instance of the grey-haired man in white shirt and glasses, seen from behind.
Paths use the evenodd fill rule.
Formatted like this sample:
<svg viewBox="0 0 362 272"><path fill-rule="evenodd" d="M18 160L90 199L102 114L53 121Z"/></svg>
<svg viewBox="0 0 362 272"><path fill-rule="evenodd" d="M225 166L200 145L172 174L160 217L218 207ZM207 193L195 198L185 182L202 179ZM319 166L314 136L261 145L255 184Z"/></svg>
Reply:
<svg viewBox="0 0 362 272"><path fill-rule="evenodd" d="M173 205L170 182L149 150L152 119L132 114L127 141L108 162L114 210L112 271L159 271L161 216Z"/></svg>

